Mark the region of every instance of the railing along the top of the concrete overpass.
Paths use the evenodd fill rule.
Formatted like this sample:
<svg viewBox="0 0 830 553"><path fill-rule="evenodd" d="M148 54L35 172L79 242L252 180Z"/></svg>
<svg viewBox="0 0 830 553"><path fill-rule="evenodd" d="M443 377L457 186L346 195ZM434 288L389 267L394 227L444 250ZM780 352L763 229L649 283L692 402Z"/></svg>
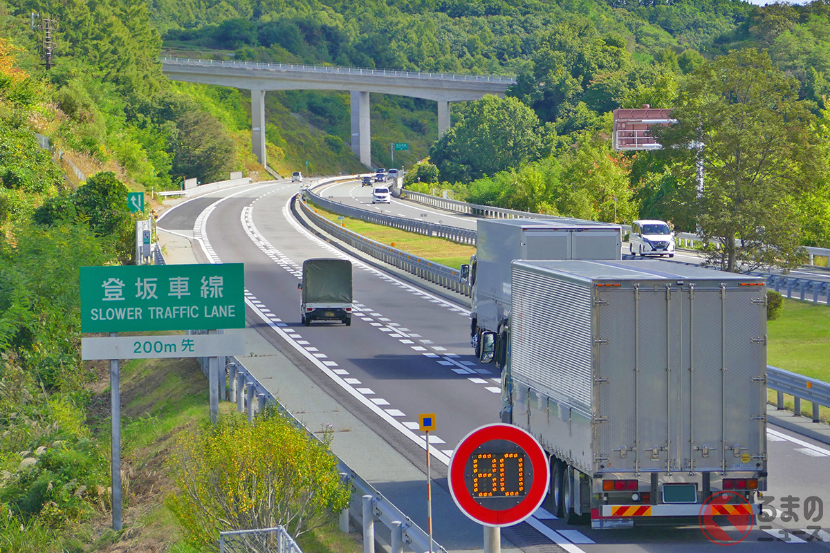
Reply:
<svg viewBox="0 0 830 553"><path fill-rule="evenodd" d="M304 71L307 73L328 73L330 75L366 75L373 77L395 77L397 79L437 79L463 82L485 82L500 85L514 85L515 77L496 75L457 75L453 73L428 73L426 71L398 71L390 69L364 69L360 67L336 67L329 65L294 65L284 63L260 63L256 61L214 61L193 58L161 58L169 65L208 65L257 69L266 71Z"/></svg>

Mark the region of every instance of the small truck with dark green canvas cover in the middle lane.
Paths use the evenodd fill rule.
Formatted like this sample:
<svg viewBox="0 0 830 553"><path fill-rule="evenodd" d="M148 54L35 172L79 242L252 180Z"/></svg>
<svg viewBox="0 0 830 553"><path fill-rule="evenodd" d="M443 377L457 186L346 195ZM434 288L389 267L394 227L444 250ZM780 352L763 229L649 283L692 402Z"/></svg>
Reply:
<svg viewBox="0 0 830 553"><path fill-rule="evenodd" d="M300 313L305 326L313 320L352 323L352 263L316 258L303 261Z"/></svg>

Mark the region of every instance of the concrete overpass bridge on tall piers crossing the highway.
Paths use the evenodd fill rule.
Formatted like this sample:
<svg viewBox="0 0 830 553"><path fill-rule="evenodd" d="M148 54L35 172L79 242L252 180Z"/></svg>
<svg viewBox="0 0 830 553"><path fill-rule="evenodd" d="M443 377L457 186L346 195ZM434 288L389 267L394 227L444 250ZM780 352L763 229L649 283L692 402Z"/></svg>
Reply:
<svg viewBox="0 0 830 553"><path fill-rule="evenodd" d="M416 73L320 65L284 65L249 61L163 58L164 75L205 85L251 90L251 144L266 163L265 93L268 90L348 90L351 95L352 151L367 167L372 162L369 94L432 99L438 104L439 136L450 128L450 102L504 96L510 77Z"/></svg>

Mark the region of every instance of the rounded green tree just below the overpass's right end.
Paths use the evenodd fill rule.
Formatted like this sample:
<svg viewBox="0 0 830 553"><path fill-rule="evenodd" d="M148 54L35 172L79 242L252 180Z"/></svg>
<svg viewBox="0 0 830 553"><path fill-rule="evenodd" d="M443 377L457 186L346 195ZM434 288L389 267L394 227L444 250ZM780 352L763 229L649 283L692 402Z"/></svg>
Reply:
<svg viewBox="0 0 830 553"><path fill-rule="evenodd" d="M437 140L430 159L442 180L470 182L539 158L539 118L518 99L487 95Z"/></svg>

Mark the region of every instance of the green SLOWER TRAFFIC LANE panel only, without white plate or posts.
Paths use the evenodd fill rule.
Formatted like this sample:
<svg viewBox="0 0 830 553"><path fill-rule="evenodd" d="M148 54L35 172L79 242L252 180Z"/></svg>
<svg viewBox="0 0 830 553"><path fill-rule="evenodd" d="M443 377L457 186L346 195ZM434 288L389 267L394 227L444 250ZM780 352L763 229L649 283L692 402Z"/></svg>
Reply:
<svg viewBox="0 0 830 553"><path fill-rule="evenodd" d="M241 263L81 267L81 332L242 327Z"/></svg>

